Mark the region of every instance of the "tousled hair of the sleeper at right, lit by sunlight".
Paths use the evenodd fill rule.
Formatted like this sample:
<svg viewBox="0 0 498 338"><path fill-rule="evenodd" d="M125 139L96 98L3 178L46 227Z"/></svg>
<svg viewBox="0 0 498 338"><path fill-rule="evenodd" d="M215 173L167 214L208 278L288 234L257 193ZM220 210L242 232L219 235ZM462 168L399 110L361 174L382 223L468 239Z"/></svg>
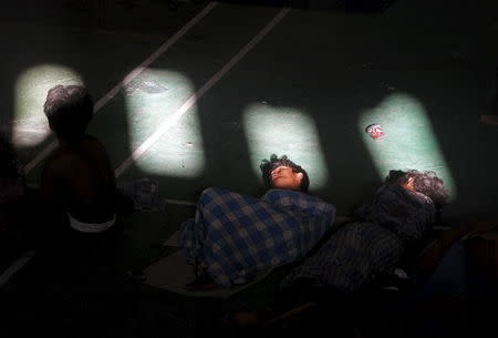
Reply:
<svg viewBox="0 0 498 338"><path fill-rule="evenodd" d="M444 181L437 177L435 172L419 172L416 170L411 170L407 172L391 171L390 175L386 177L386 181L397 184L405 184L411 177L414 180L413 185L415 191L433 199L436 207L440 208L443 205L448 203L448 190L445 187Z"/></svg>

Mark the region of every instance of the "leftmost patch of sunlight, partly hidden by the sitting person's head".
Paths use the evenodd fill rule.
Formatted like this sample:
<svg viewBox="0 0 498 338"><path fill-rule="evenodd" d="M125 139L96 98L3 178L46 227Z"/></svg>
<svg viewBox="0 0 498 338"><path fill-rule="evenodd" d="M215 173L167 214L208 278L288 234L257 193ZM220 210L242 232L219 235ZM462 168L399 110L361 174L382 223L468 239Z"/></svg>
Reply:
<svg viewBox="0 0 498 338"><path fill-rule="evenodd" d="M50 134L43 114L43 104L49 90L58 84L81 84L82 76L61 64L40 64L22 72L14 86L14 115L9 121L12 144L20 147L34 146Z"/></svg>

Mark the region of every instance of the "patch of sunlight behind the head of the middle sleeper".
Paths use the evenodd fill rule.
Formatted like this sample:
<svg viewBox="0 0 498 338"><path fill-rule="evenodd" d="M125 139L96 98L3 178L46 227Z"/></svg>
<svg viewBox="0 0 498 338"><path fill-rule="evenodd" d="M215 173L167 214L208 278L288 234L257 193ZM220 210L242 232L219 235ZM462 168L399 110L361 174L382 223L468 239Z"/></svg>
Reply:
<svg viewBox="0 0 498 338"><path fill-rule="evenodd" d="M329 170L314 120L292 107L251 104L243 112L243 126L253 170L259 176L261 160L288 155L310 176L310 190L325 186Z"/></svg>

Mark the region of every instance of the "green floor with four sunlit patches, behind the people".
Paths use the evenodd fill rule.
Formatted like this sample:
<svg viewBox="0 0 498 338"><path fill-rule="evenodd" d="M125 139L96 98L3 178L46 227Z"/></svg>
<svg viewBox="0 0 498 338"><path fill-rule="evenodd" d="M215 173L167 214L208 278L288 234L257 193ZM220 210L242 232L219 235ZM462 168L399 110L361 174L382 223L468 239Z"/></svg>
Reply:
<svg viewBox="0 0 498 338"><path fill-rule="evenodd" d="M408 168L446 181L446 217L489 211L498 136L478 117L497 31L484 8L446 4L428 11L397 1L376 16L291 10L225 72L281 9L219 3L103 101L194 13L160 34L2 23L12 41L2 54L2 131L38 182L43 162L31 171L32 160L53 139L42 114L46 91L84 83L100 104L90 133L116 168L132 160L120 177L155 177L167 198L194 201L212 185L260 194L259 163L277 153L308 170L312 193L341 214L390 170ZM384 141L366 135L372 123L384 127Z"/></svg>

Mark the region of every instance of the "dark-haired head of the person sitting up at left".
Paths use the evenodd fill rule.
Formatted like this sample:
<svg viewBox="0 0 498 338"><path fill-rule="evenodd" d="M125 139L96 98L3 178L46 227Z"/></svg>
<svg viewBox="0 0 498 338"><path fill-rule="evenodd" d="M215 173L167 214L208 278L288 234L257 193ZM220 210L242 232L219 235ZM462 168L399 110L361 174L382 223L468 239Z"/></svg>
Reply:
<svg viewBox="0 0 498 338"><path fill-rule="evenodd" d="M81 85L55 85L46 94L43 112L58 137L81 139L93 115L93 102Z"/></svg>

